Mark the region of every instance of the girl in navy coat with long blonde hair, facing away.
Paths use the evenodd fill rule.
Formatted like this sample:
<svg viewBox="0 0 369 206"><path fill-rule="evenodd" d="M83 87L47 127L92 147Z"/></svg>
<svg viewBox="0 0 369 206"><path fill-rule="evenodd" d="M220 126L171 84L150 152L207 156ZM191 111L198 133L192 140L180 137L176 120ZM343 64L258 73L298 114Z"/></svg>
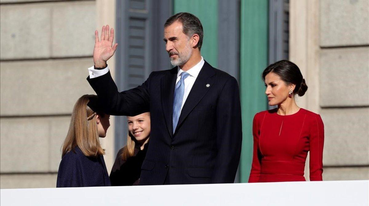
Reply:
<svg viewBox="0 0 369 206"><path fill-rule="evenodd" d="M62 146L56 187L110 186L99 137L110 126L109 115L99 109L96 95L80 97L72 113Z"/></svg>

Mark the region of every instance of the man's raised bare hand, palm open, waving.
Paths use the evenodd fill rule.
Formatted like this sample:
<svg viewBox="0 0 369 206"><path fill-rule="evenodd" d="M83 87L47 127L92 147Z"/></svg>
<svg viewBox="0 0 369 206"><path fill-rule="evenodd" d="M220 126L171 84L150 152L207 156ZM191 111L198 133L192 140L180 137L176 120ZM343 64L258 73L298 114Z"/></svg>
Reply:
<svg viewBox="0 0 369 206"><path fill-rule="evenodd" d="M106 61L114 55L115 50L117 50L118 44L114 40L114 29L110 29L109 35L109 25L103 26L101 30L101 37L99 40L99 32L95 31L95 47L93 48L93 62L95 67L104 68L106 67Z"/></svg>

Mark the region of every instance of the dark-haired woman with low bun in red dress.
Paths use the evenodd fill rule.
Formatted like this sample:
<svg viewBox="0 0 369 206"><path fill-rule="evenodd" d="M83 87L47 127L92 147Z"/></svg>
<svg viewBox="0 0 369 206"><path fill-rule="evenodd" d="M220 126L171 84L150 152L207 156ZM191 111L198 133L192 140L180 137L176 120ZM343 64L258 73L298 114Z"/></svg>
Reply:
<svg viewBox="0 0 369 206"><path fill-rule="evenodd" d="M305 181L310 151L310 181L322 181L324 125L319 114L297 106L294 96L307 90L294 63L282 60L262 73L269 105L276 109L255 114L254 157L249 182Z"/></svg>

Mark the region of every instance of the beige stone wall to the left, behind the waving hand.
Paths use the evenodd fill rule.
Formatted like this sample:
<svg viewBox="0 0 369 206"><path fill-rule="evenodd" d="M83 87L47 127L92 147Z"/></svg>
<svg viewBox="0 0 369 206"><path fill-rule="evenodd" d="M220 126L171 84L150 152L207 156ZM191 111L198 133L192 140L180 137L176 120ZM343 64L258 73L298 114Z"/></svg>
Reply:
<svg viewBox="0 0 369 206"><path fill-rule="evenodd" d="M1 189L55 187L73 105L94 94L86 77L94 30L103 24L97 19L107 16L104 23L114 26L111 7L101 0L0 0ZM113 128L114 118L102 140L108 170Z"/></svg>

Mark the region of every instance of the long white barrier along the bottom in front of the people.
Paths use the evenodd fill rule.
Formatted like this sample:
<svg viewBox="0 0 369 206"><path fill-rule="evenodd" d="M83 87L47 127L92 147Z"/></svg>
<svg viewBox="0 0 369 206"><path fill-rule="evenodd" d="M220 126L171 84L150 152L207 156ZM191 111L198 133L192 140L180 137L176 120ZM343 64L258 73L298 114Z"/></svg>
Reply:
<svg viewBox="0 0 369 206"><path fill-rule="evenodd" d="M369 181L1 189L0 205L369 205Z"/></svg>

